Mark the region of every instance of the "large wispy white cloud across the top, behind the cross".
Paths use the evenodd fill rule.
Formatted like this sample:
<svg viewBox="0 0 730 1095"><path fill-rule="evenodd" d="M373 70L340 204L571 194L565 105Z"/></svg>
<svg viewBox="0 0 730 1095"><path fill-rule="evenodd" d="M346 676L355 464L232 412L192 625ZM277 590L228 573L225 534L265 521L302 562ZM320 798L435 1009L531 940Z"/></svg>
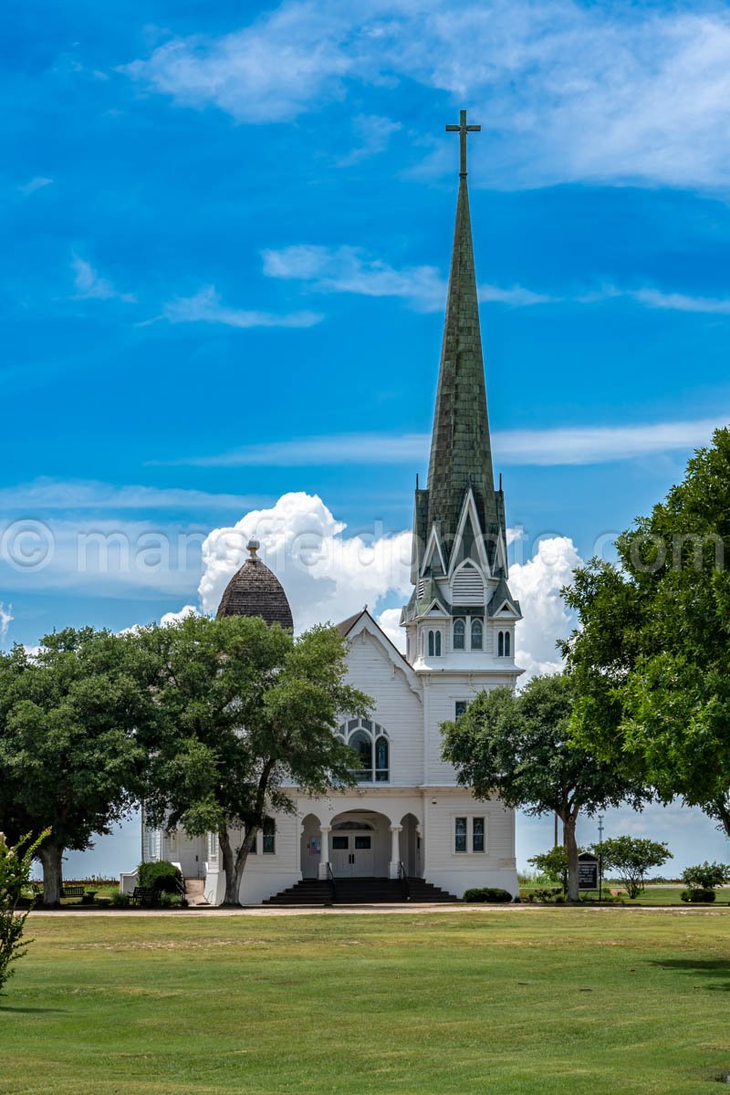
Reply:
<svg viewBox="0 0 730 1095"><path fill-rule="evenodd" d="M415 81L473 104L490 131L475 155L491 184L730 182L721 7L299 0L232 34L173 38L123 71L254 124ZM440 150L437 166L447 162Z"/></svg>

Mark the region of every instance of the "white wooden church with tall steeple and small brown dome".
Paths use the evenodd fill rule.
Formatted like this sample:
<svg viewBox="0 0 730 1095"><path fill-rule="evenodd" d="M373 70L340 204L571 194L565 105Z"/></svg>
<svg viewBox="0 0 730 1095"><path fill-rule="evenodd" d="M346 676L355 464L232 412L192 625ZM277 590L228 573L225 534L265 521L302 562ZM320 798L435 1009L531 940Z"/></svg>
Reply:
<svg viewBox="0 0 730 1095"><path fill-rule="evenodd" d="M517 894L514 815L476 800L441 760L440 724L482 689L514 685L520 606L508 579L505 499L495 489L466 185L466 117L433 434L426 488L416 485L413 593L403 609L406 655L366 610L339 625L349 679L374 698L371 718L343 712L338 733L357 751L357 787L297 797L258 834L241 902L461 897L474 886ZM468 127L472 128L471 126ZM220 612L291 626L286 592L256 556L233 576ZM233 840L235 844L235 840ZM218 839L143 832L144 855L178 863L220 903ZM286 894L285 891L289 891ZM292 892L293 891L293 892Z"/></svg>

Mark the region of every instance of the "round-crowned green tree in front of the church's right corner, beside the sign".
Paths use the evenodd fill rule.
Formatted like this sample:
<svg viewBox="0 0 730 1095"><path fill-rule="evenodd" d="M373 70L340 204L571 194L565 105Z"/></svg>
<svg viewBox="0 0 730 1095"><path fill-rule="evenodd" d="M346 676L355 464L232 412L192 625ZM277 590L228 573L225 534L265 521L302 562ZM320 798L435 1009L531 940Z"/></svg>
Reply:
<svg viewBox="0 0 730 1095"><path fill-rule="evenodd" d="M529 815L557 814L568 856L568 898L577 901L578 817L624 800L638 808L647 795L614 765L568 741L572 708L568 677L535 677L517 695L509 688L480 692L457 722L441 729L444 759L477 798L496 792L507 806Z"/></svg>

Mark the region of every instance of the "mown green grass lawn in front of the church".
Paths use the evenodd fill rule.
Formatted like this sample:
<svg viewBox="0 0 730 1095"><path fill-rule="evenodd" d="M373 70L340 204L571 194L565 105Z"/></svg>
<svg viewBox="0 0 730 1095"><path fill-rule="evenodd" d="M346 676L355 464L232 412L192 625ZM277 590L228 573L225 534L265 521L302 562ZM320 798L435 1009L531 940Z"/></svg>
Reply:
<svg viewBox="0 0 730 1095"><path fill-rule="evenodd" d="M33 915L0 1092L711 1092L730 914Z"/></svg>

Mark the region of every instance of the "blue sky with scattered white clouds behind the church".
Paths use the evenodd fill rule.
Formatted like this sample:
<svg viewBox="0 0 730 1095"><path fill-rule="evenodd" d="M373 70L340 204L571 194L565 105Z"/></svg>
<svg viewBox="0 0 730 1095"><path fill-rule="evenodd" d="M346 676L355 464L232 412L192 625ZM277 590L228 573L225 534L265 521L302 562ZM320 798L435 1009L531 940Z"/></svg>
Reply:
<svg viewBox="0 0 730 1095"><path fill-rule="evenodd" d="M292 492L398 542L462 106L518 562L610 551L727 422L727 4L28 0L0 49L4 646L210 607L205 538ZM291 577L304 622L403 599L348 565Z"/></svg>

